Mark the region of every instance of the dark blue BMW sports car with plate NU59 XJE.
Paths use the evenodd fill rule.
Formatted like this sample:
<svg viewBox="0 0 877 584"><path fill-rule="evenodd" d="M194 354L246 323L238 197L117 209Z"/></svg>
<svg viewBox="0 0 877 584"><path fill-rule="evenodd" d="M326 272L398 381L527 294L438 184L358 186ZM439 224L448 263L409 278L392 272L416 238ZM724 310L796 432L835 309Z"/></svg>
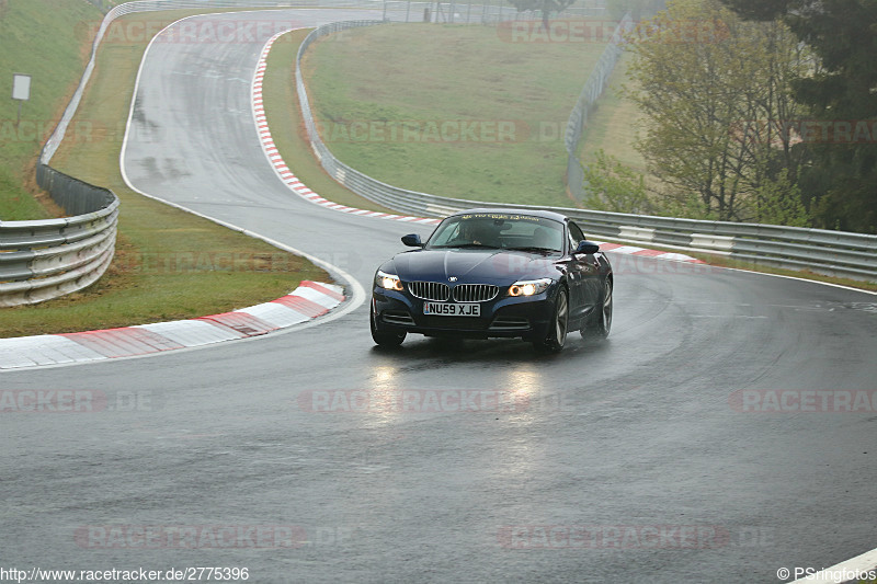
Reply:
<svg viewBox="0 0 877 584"><path fill-rule="evenodd" d="M423 242L378 267L372 290L375 343L408 333L520 337L559 352L567 332L602 340L612 327L612 266L569 217L479 208L445 218Z"/></svg>

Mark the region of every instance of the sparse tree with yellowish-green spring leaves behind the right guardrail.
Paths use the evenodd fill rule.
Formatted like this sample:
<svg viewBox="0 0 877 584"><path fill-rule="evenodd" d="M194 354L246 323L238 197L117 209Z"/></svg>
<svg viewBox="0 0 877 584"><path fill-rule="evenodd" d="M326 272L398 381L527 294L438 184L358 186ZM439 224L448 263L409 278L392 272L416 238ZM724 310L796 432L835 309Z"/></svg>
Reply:
<svg viewBox="0 0 877 584"><path fill-rule="evenodd" d="M685 205L696 194L701 216L758 219L763 186L798 172L795 136L770 122L798 114L789 82L810 61L795 36L717 0L676 0L631 41L627 94L647 117L638 148L664 195Z"/></svg>

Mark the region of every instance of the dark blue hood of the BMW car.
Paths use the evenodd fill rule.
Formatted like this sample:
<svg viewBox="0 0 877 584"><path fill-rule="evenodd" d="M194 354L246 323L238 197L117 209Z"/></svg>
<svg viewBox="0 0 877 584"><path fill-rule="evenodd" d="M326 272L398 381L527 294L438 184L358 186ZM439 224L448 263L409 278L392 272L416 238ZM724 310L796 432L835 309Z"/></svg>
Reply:
<svg viewBox="0 0 877 584"><path fill-rule="evenodd" d="M513 284L537 277L557 277L556 257L503 250L417 250L396 255L389 270L407 282Z"/></svg>

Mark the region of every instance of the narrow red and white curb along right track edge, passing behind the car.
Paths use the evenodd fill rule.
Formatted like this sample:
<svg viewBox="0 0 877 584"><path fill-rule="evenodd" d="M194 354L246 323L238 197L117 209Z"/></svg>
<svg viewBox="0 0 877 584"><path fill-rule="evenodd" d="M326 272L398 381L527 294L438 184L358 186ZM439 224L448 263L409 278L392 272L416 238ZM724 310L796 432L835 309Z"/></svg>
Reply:
<svg viewBox="0 0 877 584"><path fill-rule="evenodd" d="M291 31L284 31L275 34L267 41L267 43L265 43L265 46L262 47L262 54L259 57L259 64L257 65L252 83L253 117L255 118L255 127L259 131L259 139L262 142L262 150L265 152L269 162L274 168L274 172L277 173L277 176L280 176L281 181L283 181L286 186L298 196L330 209L349 213L351 215L358 215L362 217L378 217L381 219L391 219L396 221L419 225L438 225L442 221L441 219L410 217L407 215L390 215L387 213L357 209L356 207L349 207L346 205L333 203L308 188L301 181L298 180L293 171L289 170L289 167L286 165L286 162L283 160L283 157L277 150L274 139L271 137L271 129L269 128L267 117L265 116L264 101L262 99L262 83L265 77L265 69L267 68L269 53L271 53L271 47L274 44L274 41L288 32ZM624 245L620 243L604 243L600 241L595 241L594 243L599 243L603 251L611 251L613 253L657 257L659 260L670 260L674 262L704 263L702 260L685 255L684 253L661 252L657 250L637 248L635 245Z"/></svg>

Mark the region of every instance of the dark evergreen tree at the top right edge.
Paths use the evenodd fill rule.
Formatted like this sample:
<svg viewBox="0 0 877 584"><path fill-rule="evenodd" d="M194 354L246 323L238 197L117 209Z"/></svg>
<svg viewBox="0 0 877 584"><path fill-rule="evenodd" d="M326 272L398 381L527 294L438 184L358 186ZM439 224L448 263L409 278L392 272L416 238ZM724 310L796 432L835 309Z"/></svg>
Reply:
<svg viewBox="0 0 877 584"><path fill-rule="evenodd" d="M722 1L747 19L782 19L819 58L793 88L829 133L811 146L798 182L820 227L877 233L877 2ZM863 131L850 136L847 124Z"/></svg>

